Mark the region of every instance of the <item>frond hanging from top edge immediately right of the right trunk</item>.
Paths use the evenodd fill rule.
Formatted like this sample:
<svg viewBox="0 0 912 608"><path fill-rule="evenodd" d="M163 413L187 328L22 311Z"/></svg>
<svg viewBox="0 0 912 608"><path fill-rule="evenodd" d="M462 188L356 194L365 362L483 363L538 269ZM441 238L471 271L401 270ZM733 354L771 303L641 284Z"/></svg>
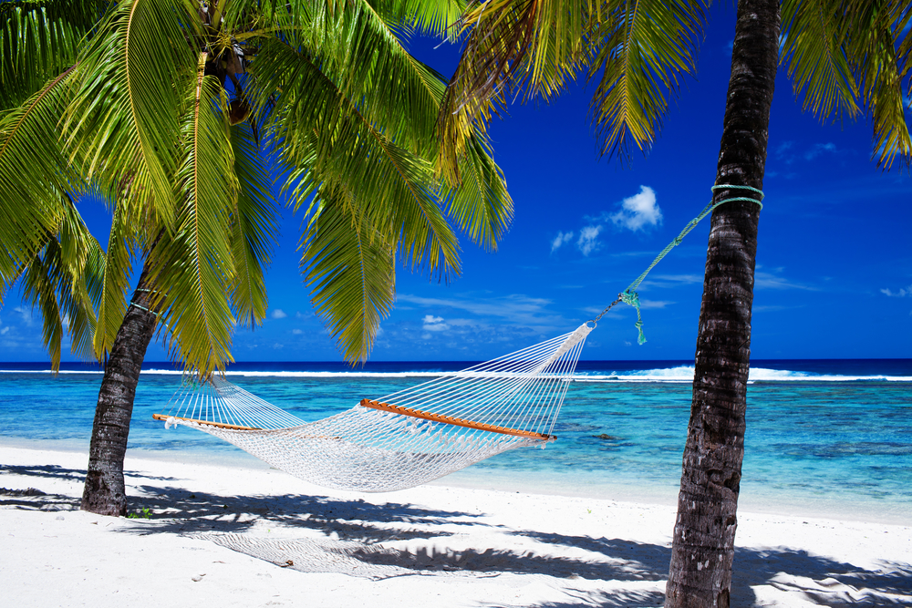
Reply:
<svg viewBox="0 0 912 608"><path fill-rule="evenodd" d="M855 117L858 90L842 45L842 0L782 2L782 63L788 64L795 95L803 92L803 110Z"/></svg>

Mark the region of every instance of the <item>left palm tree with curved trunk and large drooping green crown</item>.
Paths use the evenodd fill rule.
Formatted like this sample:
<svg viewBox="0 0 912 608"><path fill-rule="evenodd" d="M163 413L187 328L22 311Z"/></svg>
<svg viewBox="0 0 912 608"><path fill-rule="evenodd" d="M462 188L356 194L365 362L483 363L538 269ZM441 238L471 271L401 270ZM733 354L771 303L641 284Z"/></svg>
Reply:
<svg viewBox="0 0 912 608"><path fill-rule="evenodd" d="M264 318L274 165L292 207L305 210L302 269L316 310L353 362L368 356L393 303L397 255L449 281L460 272L453 224L495 248L513 203L481 133L446 155L458 179L435 176L445 83L397 34L442 36L458 2L84 2L85 24L65 10L47 20L74 4L21 3L6 21L7 31L28 24L10 39L29 44L72 35L67 57L40 85L23 79L9 106L20 104L55 161L30 171L27 204L7 205L0 182L0 214L35 225L0 238L25 252L9 263L22 268L50 230L41 222L58 204L51 194L88 183L110 201L93 342L105 376L82 506L118 515L133 396L156 328L206 377L232 360L235 323ZM0 46L7 71L33 58L26 46ZM31 150L7 141L0 162L24 165ZM128 304L134 258L142 270Z"/></svg>

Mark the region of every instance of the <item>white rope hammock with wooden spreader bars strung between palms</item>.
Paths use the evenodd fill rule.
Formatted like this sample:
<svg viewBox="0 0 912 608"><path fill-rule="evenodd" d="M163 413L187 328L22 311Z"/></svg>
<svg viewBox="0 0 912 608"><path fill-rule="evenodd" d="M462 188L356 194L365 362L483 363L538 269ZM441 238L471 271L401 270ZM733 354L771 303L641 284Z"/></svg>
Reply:
<svg viewBox="0 0 912 608"><path fill-rule="evenodd" d="M508 449L554 441L554 422L592 327L306 423L222 377L187 381L155 418L223 438L327 488L384 492Z"/></svg>

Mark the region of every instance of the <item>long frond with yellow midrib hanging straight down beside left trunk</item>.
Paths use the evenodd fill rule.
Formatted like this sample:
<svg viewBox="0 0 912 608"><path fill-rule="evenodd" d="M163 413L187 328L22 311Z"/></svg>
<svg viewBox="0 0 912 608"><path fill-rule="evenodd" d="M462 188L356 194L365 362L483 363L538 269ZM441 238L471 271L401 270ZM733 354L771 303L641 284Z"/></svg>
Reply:
<svg viewBox="0 0 912 608"><path fill-rule="evenodd" d="M168 327L171 352L188 369L208 376L233 361L235 320L227 296L234 273L229 227L238 182L227 98L217 78L203 75L204 56L188 96L190 111L181 121L177 222L152 245L149 263L150 283L158 288L152 302Z"/></svg>

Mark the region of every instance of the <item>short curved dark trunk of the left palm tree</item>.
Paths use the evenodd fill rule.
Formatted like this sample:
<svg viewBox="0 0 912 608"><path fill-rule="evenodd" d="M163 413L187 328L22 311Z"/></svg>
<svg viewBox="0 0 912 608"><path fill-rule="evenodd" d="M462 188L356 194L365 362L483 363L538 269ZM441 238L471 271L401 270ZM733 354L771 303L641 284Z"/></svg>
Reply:
<svg viewBox="0 0 912 608"><path fill-rule="evenodd" d="M143 266L140 283L111 345L105 375L98 391L92 442L88 448L88 474L82 492L82 509L99 515L126 515L123 457L133 414L133 398L140 381L140 366L155 333L156 316L150 312L149 267Z"/></svg>

